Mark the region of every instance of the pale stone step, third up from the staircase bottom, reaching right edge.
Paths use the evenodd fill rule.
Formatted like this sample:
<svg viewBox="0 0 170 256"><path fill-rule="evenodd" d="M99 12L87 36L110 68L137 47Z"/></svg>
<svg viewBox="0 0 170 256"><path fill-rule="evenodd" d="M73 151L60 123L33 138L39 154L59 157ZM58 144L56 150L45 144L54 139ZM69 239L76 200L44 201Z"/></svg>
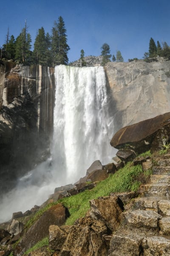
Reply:
<svg viewBox="0 0 170 256"><path fill-rule="evenodd" d="M133 209L153 210L170 216L170 200L167 197L141 197L133 200Z"/></svg>

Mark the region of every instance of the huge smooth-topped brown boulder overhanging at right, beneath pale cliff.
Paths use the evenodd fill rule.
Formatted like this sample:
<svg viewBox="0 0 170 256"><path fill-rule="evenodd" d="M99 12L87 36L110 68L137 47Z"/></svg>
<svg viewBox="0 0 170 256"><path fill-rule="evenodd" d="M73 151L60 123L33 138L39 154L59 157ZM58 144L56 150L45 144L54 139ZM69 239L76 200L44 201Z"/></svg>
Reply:
<svg viewBox="0 0 170 256"><path fill-rule="evenodd" d="M128 148L136 153L160 150L170 140L170 112L126 126L113 136L114 148Z"/></svg>

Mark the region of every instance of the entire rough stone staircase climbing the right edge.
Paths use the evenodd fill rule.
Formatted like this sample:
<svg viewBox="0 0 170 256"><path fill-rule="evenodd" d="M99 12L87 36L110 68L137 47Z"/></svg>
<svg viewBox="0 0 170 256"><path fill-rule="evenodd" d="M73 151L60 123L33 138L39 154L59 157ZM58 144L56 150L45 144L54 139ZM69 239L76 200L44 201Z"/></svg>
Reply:
<svg viewBox="0 0 170 256"><path fill-rule="evenodd" d="M125 206L109 256L170 256L170 155L153 166L150 183Z"/></svg>

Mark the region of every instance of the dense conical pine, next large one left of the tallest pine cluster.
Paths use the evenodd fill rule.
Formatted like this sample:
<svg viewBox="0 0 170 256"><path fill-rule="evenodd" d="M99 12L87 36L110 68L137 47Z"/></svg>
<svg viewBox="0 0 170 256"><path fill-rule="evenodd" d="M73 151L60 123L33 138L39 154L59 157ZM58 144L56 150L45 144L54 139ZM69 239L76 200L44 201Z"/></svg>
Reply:
<svg viewBox="0 0 170 256"><path fill-rule="evenodd" d="M35 64L47 65L48 42L44 28L38 29L37 37L34 42L33 58Z"/></svg>

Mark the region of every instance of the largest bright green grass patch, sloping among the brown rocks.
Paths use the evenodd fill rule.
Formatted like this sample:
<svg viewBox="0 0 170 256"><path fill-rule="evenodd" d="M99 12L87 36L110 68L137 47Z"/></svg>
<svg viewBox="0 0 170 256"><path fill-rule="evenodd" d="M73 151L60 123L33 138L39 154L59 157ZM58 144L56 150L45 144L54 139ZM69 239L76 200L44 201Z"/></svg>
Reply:
<svg viewBox="0 0 170 256"><path fill-rule="evenodd" d="M130 162L115 174L99 182L94 189L86 190L70 198L61 199L59 202L68 208L71 215L65 224L74 224L77 218L84 217L88 209L90 209L89 201L91 199L107 196L111 192L136 191L141 184L139 176L142 173L141 165L133 166Z"/></svg>

